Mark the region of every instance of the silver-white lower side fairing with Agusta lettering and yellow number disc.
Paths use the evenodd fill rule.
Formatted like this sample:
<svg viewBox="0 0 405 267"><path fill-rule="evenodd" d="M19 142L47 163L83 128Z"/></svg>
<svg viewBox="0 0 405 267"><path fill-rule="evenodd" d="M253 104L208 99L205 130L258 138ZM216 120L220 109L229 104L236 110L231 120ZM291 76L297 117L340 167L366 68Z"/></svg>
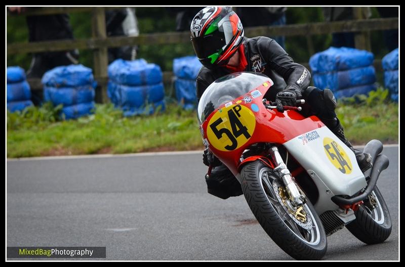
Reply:
<svg viewBox="0 0 405 267"><path fill-rule="evenodd" d="M326 126L298 136L284 146L308 174L315 172L311 175L313 179L321 179L331 190L329 198L352 196L367 185L353 151Z"/></svg>

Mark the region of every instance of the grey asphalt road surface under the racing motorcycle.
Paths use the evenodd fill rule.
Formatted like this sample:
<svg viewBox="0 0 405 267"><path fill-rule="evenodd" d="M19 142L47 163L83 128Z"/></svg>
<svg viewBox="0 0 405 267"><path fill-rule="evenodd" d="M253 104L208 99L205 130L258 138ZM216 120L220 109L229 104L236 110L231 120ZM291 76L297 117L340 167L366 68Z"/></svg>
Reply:
<svg viewBox="0 0 405 267"><path fill-rule="evenodd" d="M378 186L391 236L366 245L346 229L323 260L398 260L398 147ZM105 246L109 260L293 260L243 196L206 193L202 156L7 161L7 246Z"/></svg>

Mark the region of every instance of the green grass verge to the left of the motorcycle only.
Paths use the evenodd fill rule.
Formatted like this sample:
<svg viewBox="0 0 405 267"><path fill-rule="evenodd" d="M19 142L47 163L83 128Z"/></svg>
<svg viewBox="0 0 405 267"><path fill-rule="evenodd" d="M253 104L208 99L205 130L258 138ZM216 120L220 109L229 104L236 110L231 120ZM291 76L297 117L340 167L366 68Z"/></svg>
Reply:
<svg viewBox="0 0 405 267"><path fill-rule="evenodd" d="M69 121L56 121L51 110L44 105L8 112L7 157L204 148L195 111L175 105L164 113L126 118L111 104L97 104L94 115Z"/></svg>

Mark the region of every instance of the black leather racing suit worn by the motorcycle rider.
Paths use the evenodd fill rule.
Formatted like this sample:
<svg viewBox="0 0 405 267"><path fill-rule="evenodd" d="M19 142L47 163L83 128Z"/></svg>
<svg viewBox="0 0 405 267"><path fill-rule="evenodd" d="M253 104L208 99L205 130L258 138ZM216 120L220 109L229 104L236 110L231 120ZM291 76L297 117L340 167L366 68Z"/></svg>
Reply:
<svg viewBox="0 0 405 267"><path fill-rule="evenodd" d="M311 74L304 66L295 63L284 49L268 37L244 37L242 45L248 63L244 71L261 72L274 82L264 98L275 101L278 92L294 90L297 99L306 100L302 111L304 116L317 115L331 130L336 127L335 99L324 99L323 91L308 87ZM225 67L201 67L196 78L197 100L199 101L211 83L229 73ZM208 193L219 198L226 199L242 194L239 182L224 165L213 168L206 181Z"/></svg>

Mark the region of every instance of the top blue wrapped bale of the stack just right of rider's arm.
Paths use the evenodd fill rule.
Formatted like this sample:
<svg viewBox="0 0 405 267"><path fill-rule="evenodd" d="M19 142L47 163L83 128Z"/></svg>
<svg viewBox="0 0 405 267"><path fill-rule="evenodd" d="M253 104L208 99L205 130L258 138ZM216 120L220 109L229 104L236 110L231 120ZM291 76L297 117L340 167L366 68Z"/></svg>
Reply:
<svg viewBox="0 0 405 267"><path fill-rule="evenodd" d="M312 73L366 67L373 64L374 55L366 50L331 47L309 59Z"/></svg>

